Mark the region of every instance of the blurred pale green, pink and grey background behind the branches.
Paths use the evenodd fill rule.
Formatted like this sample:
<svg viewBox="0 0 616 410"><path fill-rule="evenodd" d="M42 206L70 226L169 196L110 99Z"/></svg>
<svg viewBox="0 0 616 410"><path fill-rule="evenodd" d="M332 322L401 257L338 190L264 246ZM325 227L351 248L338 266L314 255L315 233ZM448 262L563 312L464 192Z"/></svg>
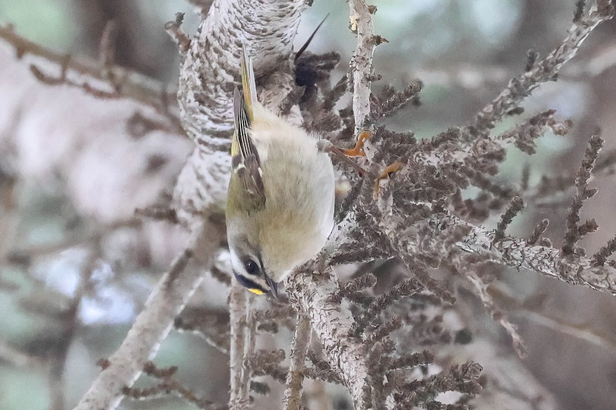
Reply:
<svg viewBox="0 0 616 410"><path fill-rule="evenodd" d="M0 0L0 23L11 23L16 33L60 55L95 61L105 25L115 20L116 63L172 92L179 56L163 25L176 12L186 12L184 29L194 33L201 16L193 11L209 4L194 1ZM546 55L562 41L575 8L573 0L373 3L378 7L376 33L389 41L376 49L375 71L383 80L373 88L393 84L402 89L415 79L423 81L421 106L403 109L386 122L418 138L468 122L524 70L527 50ZM328 13L309 50L341 53L337 81L355 47L346 2L315 0L302 18L296 47ZM509 150L499 181L520 184L526 164L531 186L543 175L572 175L598 128L605 149L616 148L615 34L615 22L601 25L559 81L542 85L525 101L524 114L498 125L495 133L546 109L575 123L566 136L541 138L535 156ZM160 114L151 107L96 98L66 84L43 84L28 68L32 60L18 60L2 39L0 61L0 409L69 409L98 374L96 361L120 345L152 286L183 249L186 237L179 228L140 218L134 210L168 202L193 144L164 127L131 130L128 124L136 113ZM593 179L599 194L582 210L582 219L596 218L601 225L583 240L589 253L616 233L612 173L607 168ZM550 218L546 235L559 245L571 194L564 190L556 200L527 199L529 207L509 232L526 236L541 219ZM465 192L472 195L472 190ZM567 410L613 409L616 299L530 272L496 273L503 289L517 299L538 301L509 311L529 353L515 361L548 392L537 395L537 408L542 400L553 400L554 408ZM194 312L211 326L224 327L227 293L224 285L206 278L187 314L198 307ZM477 349L485 353L489 345L494 361L515 357L503 330L472 296L468 299L466 320L477 335ZM278 343L288 343L290 335L282 329ZM226 400L227 357L203 337L172 331L156 363L179 366L177 376L198 395ZM335 400L327 406L348 408L345 396L332 392ZM124 400L121 408L192 406L161 398Z"/></svg>

